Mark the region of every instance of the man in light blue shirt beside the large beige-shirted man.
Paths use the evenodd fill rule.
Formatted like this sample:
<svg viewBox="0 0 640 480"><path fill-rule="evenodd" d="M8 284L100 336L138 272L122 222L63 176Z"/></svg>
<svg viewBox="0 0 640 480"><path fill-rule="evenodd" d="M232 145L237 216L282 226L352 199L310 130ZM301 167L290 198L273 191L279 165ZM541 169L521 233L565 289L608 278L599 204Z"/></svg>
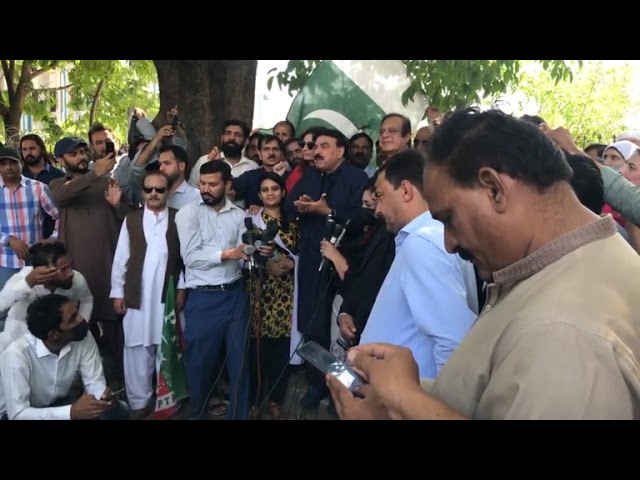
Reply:
<svg viewBox="0 0 640 480"><path fill-rule="evenodd" d="M447 253L444 227L429 213L423 169L424 158L415 150L397 154L380 169L376 213L396 233L396 257L360 344L407 347L420 377L435 378L477 315L467 298L473 293L465 281L466 263Z"/></svg>

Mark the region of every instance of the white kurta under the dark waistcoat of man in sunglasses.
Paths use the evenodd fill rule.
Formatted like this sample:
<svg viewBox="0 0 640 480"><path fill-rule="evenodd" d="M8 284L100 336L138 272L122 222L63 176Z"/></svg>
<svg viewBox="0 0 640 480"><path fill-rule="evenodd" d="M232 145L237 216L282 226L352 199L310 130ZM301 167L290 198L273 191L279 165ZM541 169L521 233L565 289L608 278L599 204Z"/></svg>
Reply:
<svg viewBox="0 0 640 480"><path fill-rule="evenodd" d="M123 330L126 347L148 347L162 343L164 322L162 290L169 260L166 240L168 224L167 209L156 215L145 207L142 226L147 242L147 253L142 267L140 309L128 308L124 316ZM124 298L125 274L130 256L129 242L129 231L125 221L122 223L111 268L111 298Z"/></svg>

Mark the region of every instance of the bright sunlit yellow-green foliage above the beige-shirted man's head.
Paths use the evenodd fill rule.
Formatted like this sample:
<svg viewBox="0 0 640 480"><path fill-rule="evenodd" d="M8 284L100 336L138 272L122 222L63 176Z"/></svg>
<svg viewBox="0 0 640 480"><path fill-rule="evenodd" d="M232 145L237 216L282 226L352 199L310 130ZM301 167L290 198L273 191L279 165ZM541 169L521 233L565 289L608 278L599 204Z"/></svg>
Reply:
<svg viewBox="0 0 640 480"><path fill-rule="evenodd" d="M608 144L618 133L633 129L628 116L638 112L639 105L630 96L632 77L629 63L586 61L573 82L556 83L552 70L531 65L517 88L519 109L539 115L552 128L565 127L580 147Z"/></svg>

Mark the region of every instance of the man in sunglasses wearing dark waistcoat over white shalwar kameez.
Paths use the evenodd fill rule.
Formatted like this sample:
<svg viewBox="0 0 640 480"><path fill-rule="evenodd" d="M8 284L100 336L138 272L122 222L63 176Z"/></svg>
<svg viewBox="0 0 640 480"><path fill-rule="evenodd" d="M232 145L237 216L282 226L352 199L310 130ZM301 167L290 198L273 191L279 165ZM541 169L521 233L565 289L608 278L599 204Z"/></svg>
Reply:
<svg viewBox="0 0 640 480"><path fill-rule="evenodd" d="M183 270L177 210L167 207L169 179L148 171L142 183L144 209L127 215L111 269L111 298L124 315L124 380L132 419L154 409L152 379L160 368L164 301L170 277Z"/></svg>

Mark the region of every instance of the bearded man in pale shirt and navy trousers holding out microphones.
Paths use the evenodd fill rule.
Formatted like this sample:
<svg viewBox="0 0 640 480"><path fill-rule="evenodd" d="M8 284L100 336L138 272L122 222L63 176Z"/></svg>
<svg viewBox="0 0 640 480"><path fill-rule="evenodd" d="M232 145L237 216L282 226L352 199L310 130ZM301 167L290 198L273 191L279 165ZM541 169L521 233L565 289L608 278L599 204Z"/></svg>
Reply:
<svg viewBox="0 0 640 480"><path fill-rule="evenodd" d="M227 347L230 405L227 419L243 420L249 410L246 365L249 302L239 260L248 260L244 210L226 197L231 167L213 160L200 167L200 201L176 214L180 254L189 290L185 315L185 358L191 416L206 419L222 342Z"/></svg>

